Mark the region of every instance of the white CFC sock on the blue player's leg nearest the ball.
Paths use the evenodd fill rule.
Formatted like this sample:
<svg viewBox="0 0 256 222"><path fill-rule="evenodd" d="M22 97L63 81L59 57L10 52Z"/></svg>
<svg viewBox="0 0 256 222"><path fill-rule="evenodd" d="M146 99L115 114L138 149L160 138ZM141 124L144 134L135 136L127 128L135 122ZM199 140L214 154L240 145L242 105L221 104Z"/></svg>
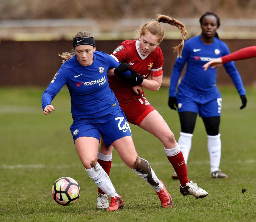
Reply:
<svg viewBox="0 0 256 222"><path fill-rule="evenodd" d="M102 169L99 163L96 166L86 169L88 175L94 183L109 197L119 197L118 193L116 193L115 188L108 176L108 174Z"/></svg>

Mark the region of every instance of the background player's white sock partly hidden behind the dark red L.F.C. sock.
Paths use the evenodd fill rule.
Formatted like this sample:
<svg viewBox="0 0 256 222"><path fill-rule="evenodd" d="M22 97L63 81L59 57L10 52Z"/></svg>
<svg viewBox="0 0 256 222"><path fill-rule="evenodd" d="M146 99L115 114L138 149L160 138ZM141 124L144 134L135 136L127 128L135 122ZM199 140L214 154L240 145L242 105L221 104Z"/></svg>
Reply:
<svg viewBox="0 0 256 222"><path fill-rule="evenodd" d="M183 133L183 132L180 132L179 134L180 134L180 136L179 136L178 144L179 144L181 152L183 153L183 157L184 157L185 163L187 165L188 155L189 155L189 152L191 149L193 134Z"/></svg>

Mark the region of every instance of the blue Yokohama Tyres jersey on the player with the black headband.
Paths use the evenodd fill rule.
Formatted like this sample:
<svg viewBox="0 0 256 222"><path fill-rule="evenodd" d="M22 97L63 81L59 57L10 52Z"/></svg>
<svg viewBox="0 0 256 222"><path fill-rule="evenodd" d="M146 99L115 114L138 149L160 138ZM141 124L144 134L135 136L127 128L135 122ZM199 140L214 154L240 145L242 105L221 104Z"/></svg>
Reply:
<svg viewBox="0 0 256 222"><path fill-rule="evenodd" d="M110 55L95 51L90 66L79 64L76 55L67 60L55 74L42 96L42 108L51 101L63 85L67 85L74 120L97 118L119 108L119 103L109 88L107 71L120 65Z"/></svg>

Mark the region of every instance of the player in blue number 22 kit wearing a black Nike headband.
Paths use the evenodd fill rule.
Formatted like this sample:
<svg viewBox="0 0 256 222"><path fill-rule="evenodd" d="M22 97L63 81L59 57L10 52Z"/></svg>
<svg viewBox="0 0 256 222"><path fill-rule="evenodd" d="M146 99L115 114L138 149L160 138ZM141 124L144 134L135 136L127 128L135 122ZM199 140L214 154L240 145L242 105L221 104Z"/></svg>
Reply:
<svg viewBox="0 0 256 222"><path fill-rule="evenodd" d="M54 111L51 101L66 84L71 98L73 124L70 131L74 144L89 177L111 197L108 211L122 208L123 200L97 162L100 134L107 146L112 144L126 165L154 188L162 206L172 207L172 198L164 184L150 164L138 156L129 123L109 88L108 69L116 68L115 75L135 77L129 79L131 84L137 83L138 74L131 75L127 64L120 64L110 55L95 51L93 35L88 31L79 31L73 37L73 48L60 55L65 62L42 95L44 114Z"/></svg>

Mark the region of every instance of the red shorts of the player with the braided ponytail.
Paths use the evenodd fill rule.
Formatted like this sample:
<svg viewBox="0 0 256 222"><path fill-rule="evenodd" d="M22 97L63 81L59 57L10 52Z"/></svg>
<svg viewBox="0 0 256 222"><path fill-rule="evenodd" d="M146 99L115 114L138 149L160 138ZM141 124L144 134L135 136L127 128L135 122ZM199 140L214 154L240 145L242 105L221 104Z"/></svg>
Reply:
<svg viewBox="0 0 256 222"><path fill-rule="evenodd" d="M138 126L148 113L155 110L155 108L147 101L143 94L138 96L137 100L126 102L119 101L119 104L128 122Z"/></svg>

